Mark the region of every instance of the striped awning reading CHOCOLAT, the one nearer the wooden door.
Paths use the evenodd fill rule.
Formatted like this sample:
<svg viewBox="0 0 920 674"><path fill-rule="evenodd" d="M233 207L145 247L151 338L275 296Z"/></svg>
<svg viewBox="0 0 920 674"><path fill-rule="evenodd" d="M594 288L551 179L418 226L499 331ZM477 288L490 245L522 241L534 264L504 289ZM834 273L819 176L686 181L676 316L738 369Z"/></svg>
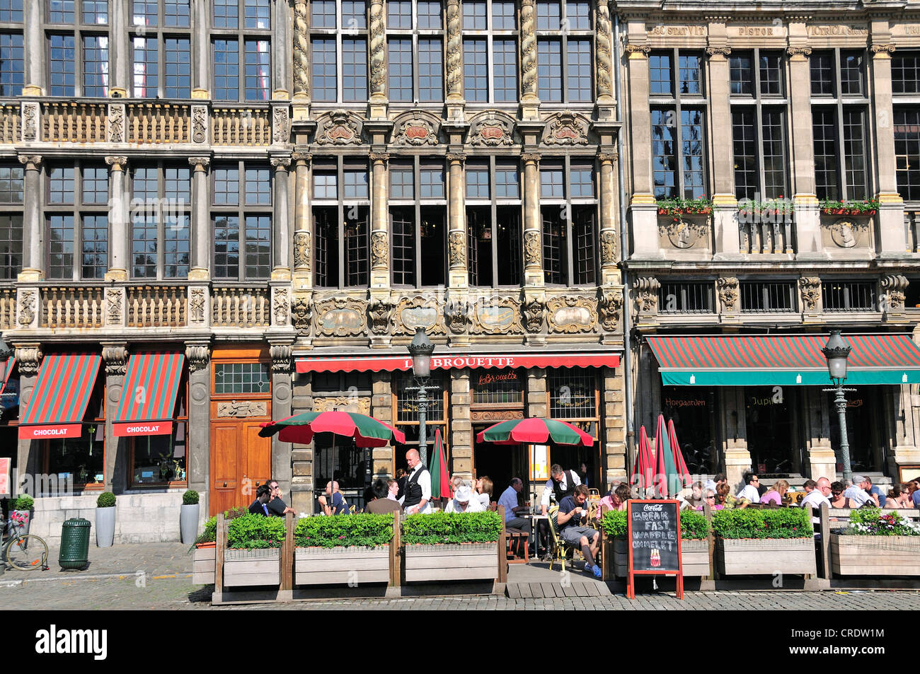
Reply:
<svg viewBox="0 0 920 674"><path fill-rule="evenodd" d="M136 353L128 360L121 402L112 429L115 437L167 435L172 432L181 353Z"/></svg>

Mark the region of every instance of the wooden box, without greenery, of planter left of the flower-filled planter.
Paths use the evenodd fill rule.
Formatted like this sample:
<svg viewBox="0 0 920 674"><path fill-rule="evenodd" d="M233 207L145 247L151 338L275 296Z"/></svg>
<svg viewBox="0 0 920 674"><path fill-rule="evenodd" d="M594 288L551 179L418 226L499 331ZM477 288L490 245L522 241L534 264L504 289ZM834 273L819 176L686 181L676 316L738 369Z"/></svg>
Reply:
<svg viewBox="0 0 920 674"><path fill-rule="evenodd" d="M716 539L716 568L722 576L814 576L814 539Z"/></svg>

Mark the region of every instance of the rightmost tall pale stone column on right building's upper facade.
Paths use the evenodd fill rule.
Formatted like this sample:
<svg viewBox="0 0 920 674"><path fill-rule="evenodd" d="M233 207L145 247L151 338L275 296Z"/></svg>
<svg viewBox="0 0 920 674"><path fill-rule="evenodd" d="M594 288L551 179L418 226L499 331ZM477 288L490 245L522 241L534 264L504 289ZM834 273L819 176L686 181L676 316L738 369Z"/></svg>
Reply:
<svg viewBox="0 0 920 674"><path fill-rule="evenodd" d="M877 38L876 32L884 29ZM872 92L875 104L876 154L879 200L879 253L881 257L903 257L907 250L904 234L904 202L898 194L898 174L894 159L894 109L891 103L891 34L888 21L872 22ZM878 40L878 41L877 41Z"/></svg>

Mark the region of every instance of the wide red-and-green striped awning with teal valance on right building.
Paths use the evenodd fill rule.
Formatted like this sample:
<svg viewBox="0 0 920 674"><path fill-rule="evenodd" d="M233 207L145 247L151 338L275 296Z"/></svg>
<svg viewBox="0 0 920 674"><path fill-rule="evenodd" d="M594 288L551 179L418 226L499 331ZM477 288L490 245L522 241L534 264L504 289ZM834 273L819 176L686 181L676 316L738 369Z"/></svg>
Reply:
<svg viewBox="0 0 920 674"><path fill-rule="evenodd" d="M920 383L909 335L845 335L848 384ZM827 335L648 337L661 382L677 386L830 385Z"/></svg>

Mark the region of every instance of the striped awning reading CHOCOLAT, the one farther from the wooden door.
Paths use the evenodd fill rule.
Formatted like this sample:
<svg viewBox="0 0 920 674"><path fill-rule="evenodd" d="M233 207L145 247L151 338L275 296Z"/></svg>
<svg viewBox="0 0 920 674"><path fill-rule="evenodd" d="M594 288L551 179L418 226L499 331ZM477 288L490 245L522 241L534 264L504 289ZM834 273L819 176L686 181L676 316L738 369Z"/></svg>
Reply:
<svg viewBox="0 0 920 674"><path fill-rule="evenodd" d="M92 353L45 356L20 417L19 439L78 438L101 361Z"/></svg>

